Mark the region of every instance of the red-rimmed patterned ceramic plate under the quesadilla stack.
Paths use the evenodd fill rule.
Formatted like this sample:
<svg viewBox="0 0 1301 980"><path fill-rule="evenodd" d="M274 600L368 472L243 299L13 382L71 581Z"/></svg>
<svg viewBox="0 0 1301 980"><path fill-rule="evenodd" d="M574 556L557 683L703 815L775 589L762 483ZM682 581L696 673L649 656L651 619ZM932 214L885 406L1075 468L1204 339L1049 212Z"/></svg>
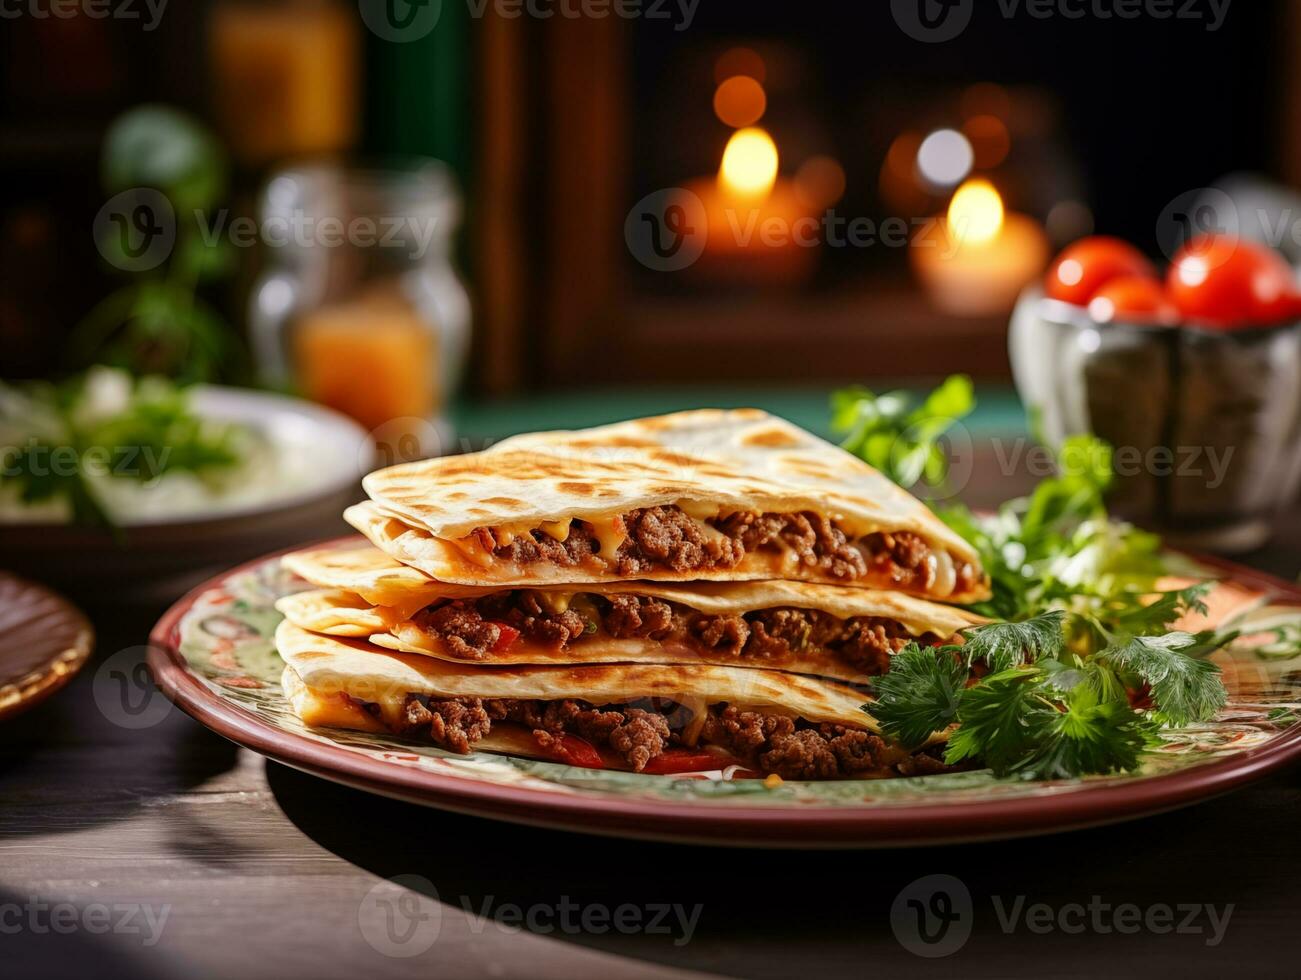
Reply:
<svg viewBox="0 0 1301 980"><path fill-rule="evenodd" d="M341 544L338 541L337 544ZM593 772L455 755L396 735L308 729L280 690L275 600L308 586L264 558L200 586L159 621L150 666L185 711L288 765L464 813L587 833L739 846L846 847L972 841L1142 816L1226 793L1301 756L1301 590L1236 566L1210 619L1242 636L1215 655L1229 704L1174 734L1133 774L1058 782L963 772L783 782L722 773ZM1190 623L1192 625L1192 623ZM1205 619L1194 625L1205 627Z"/></svg>

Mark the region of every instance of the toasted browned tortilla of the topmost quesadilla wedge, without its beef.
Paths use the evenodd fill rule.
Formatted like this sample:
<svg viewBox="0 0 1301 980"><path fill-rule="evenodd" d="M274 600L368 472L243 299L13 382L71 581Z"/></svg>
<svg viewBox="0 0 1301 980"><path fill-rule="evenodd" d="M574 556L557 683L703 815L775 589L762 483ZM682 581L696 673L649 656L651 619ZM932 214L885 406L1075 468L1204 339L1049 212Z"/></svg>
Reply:
<svg viewBox="0 0 1301 980"><path fill-rule="evenodd" d="M700 410L574 432L515 436L483 453L402 463L369 474L371 502L345 517L379 548L444 582L533 584L610 582L605 561L582 567L515 565L475 554L466 539L481 527L527 532L548 523L589 522L598 534L617 515L680 506L693 517L736 511L812 511L851 536L909 531L941 562L969 562L974 549L916 497L882 474L803 429L757 410ZM703 518L701 518L703 519ZM602 540L617 540L605 531ZM606 548L602 547L602 553ZM847 583L792 554L749 552L731 569L661 567L641 578L738 580L799 578ZM984 584L926 595L951 601L985 596Z"/></svg>

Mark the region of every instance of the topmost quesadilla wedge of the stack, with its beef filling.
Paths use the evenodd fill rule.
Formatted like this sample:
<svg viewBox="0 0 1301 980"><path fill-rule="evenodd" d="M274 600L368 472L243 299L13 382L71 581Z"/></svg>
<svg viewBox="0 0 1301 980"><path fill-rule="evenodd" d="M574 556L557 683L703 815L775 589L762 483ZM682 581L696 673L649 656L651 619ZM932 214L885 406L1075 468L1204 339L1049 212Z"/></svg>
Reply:
<svg viewBox="0 0 1301 980"><path fill-rule="evenodd" d="M345 513L442 582L801 579L974 601L974 549L866 463L757 410L509 439L369 474Z"/></svg>

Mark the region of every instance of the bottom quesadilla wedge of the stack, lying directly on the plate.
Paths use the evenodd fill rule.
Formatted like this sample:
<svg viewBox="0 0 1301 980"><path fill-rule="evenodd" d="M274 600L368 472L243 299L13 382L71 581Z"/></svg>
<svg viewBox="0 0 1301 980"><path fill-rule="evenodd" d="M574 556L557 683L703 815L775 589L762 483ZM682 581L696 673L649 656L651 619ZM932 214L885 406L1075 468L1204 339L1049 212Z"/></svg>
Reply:
<svg viewBox="0 0 1301 980"><path fill-rule="evenodd" d="M280 625L284 690L315 728L647 773L740 765L783 778L943 770L877 734L864 695L777 670L644 664L483 668ZM933 739L935 742L937 739Z"/></svg>

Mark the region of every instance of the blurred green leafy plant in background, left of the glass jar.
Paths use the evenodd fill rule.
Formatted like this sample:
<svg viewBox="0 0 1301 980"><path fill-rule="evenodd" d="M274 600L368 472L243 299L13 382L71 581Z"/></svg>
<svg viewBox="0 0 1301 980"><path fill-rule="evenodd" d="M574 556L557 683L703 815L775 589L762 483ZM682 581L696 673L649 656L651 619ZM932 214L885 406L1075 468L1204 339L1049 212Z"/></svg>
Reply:
<svg viewBox="0 0 1301 980"><path fill-rule="evenodd" d="M198 295L200 285L234 268L230 242L204 233L207 212L226 194L221 143L177 109L142 105L109 128L100 168L109 194L160 194L170 206L165 217L174 226L174 241L161 263L126 273L133 281L77 325L68 345L72 364L105 363L182 383L238 374L245 357L233 329ZM96 245L114 268L130 269L139 255L131 238L137 233L127 221L105 223L96 228Z"/></svg>

